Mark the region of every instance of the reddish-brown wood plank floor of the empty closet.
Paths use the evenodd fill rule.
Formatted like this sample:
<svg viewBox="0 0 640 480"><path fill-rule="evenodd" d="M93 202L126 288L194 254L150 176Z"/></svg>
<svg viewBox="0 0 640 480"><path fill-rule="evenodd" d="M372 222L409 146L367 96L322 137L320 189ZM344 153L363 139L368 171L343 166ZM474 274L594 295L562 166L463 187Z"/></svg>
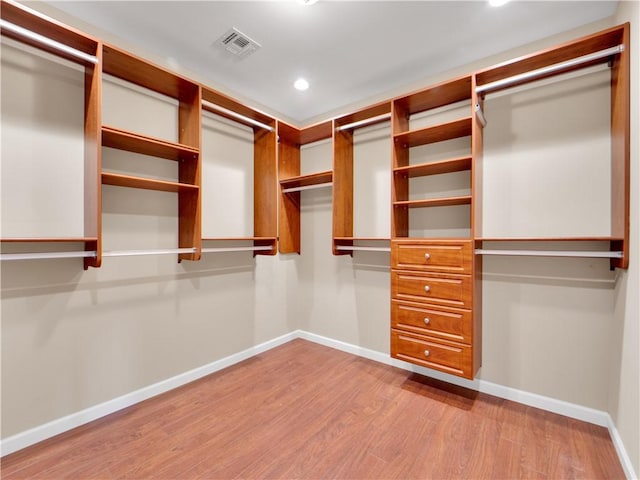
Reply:
<svg viewBox="0 0 640 480"><path fill-rule="evenodd" d="M622 479L605 428L304 340L2 459L11 479Z"/></svg>

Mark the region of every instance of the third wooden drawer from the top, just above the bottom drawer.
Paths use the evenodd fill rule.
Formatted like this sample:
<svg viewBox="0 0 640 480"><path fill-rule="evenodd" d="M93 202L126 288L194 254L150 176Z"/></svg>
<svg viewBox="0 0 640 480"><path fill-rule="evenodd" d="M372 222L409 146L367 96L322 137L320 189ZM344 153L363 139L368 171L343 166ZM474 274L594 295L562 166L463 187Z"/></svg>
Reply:
<svg viewBox="0 0 640 480"><path fill-rule="evenodd" d="M470 344L473 318L469 310L392 300L391 327Z"/></svg>

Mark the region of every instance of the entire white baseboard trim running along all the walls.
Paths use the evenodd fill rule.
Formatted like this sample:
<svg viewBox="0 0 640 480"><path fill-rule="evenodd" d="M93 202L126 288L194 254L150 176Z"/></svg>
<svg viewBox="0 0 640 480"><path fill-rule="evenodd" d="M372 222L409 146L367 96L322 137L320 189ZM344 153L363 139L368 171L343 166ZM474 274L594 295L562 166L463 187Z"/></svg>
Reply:
<svg viewBox="0 0 640 480"><path fill-rule="evenodd" d="M479 392L494 395L506 400L512 400L524 405L529 405L549 412L558 413L560 415L607 427L611 434L611 438L620 458L622 467L625 471L625 475L629 480L637 480L638 478L633 469L631 459L629 458L629 455L624 448L624 444L622 442L622 439L620 438L613 419L606 412L564 402L562 400L556 400L554 398L545 397L535 393L517 390L511 387L505 387L503 385L498 385L486 380L466 380L464 378L455 377L446 373L441 373L435 370L423 368L417 365L412 365L410 363L393 359L386 353L324 337L322 335L307 332L304 330L294 330L280 337L274 338L272 340L261 343L220 360L216 360L215 362L212 362L208 365L195 368L188 372L176 375L175 377L168 378L166 380L155 383L153 385L149 385L126 395L122 395L121 397L114 398L113 400L109 400L99 405L89 407L80 412L67 415L66 417L59 418L57 420L53 420L49 423L40 425L25 432L7 437L6 439L0 441L1 456L16 452L35 443L59 435L60 433L64 433L68 430L79 427L93 420L97 420L98 418L117 412L118 410L122 410L123 408L135 405L136 403L147 400L148 398L154 397L164 392L168 392L169 390L173 390L174 388L180 387L189 382L193 382L194 380L210 375L211 373L222 370L223 368L235 365L236 363L239 363L260 353L266 352L267 350L270 350L272 348L283 345L296 338L302 338L304 340L318 343L320 345L334 348L336 350L367 358L375 362L391 365L403 370L419 373L427 377L442 380L461 387L466 387L471 390L477 390Z"/></svg>

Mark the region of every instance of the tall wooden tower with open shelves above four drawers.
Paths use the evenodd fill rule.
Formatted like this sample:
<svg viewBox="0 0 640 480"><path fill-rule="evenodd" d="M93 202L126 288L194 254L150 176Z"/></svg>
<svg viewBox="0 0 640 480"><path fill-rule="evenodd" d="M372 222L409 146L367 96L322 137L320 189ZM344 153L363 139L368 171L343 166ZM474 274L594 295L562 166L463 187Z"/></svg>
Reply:
<svg viewBox="0 0 640 480"><path fill-rule="evenodd" d="M393 101L391 207L391 356L452 375L473 378L481 363L480 258L473 255L475 185L469 195L412 199L410 179L469 171L482 149L473 77L464 76ZM467 103L462 118L413 128L422 112ZM412 164L414 147L471 137L469 154ZM478 158L476 158L478 157ZM464 237L412 237L409 210L470 205Z"/></svg>

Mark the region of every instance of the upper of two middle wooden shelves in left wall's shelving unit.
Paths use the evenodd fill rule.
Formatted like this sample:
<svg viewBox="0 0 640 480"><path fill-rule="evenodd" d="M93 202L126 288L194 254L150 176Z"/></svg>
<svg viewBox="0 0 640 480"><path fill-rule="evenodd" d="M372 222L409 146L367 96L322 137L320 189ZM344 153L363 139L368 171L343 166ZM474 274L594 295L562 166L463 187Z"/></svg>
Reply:
<svg viewBox="0 0 640 480"><path fill-rule="evenodd" d="M187 145L108 126L102 127L102 146L176 161L198 158L200 153L197 148Z"/></svg>

